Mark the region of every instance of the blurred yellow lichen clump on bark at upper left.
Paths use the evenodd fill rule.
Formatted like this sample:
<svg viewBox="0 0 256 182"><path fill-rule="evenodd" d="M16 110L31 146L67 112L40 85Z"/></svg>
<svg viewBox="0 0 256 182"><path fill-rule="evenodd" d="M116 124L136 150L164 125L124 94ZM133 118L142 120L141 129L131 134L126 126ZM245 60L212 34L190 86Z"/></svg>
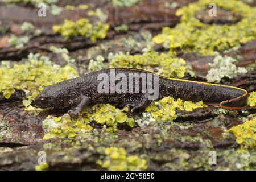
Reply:
<svg viewBox="0 0 256 182"><path fill-rule="evenodd" d="M97 39L105 38L109 30L109 25L100 21L92 24L89 19L86 18L79 19L76 22L65 19L63 24L53 26L52 29L53 32L60 33L65 39L85 36L95 42Z"/></svg>

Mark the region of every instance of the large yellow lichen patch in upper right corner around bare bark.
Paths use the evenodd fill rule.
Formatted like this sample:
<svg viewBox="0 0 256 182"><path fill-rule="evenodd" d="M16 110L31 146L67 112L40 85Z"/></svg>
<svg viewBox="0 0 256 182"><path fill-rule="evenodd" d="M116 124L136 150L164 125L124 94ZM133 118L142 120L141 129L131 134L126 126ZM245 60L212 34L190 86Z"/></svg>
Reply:
<svg viewBox="0 0 256 182"><path fill-rule="evenodd" d="M205 24L196 18L196 14L210 3L218 7L241 14L243 19L232 25ZM162 33L156 35L153 41L164 44L171 53L181 49L184 53L200 52L203 55L213 55L215 50L224 51L241 43L256 38L256 8L236 0L200 0L177 10L181 22L175 28L164 27Z"/></svg>

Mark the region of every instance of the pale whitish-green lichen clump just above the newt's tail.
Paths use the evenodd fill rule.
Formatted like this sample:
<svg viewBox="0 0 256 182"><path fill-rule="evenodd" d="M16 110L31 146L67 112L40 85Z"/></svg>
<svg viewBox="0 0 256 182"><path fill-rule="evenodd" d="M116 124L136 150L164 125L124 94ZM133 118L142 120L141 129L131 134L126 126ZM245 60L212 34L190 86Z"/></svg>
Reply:
<svg viewBox="0 0 256 182"><path fill-rule="evenodd" d="M221 82L222 78L234 78L238 73L245 74L247 69L236 66L237 60L229 56L221 56L220 53L215 52L213 63L209 63L210 69L206 75L208 82Z"/></svg>

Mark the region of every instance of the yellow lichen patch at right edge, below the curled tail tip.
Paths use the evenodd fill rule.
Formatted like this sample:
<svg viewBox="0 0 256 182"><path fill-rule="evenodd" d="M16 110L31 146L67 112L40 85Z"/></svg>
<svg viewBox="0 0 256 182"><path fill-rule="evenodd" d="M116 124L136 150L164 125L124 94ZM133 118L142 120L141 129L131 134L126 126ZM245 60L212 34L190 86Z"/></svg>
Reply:
<svg viewBox="0 0 256 182"><path fill-rule="evenodd" d="M228 131L236 136L236 142L241 145L240 150L238 150L239 153L246 152L246 150L256 146L256 118L233 126Z"/></svg>

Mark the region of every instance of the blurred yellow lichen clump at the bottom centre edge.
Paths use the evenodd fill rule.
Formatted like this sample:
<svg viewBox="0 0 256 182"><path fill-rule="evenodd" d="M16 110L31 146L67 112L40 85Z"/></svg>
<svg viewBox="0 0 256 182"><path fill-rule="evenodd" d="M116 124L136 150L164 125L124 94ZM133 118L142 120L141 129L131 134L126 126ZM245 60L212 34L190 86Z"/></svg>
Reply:
<svg viewBox="0 0 256 182"><path fill-rule="evenodd" d="M103 160L96 162L102 168L117 171L135 171L146 170L147 161L139 158L137 155L127 156L125 148L108 147L105 149L105 156Z"/></svg>

